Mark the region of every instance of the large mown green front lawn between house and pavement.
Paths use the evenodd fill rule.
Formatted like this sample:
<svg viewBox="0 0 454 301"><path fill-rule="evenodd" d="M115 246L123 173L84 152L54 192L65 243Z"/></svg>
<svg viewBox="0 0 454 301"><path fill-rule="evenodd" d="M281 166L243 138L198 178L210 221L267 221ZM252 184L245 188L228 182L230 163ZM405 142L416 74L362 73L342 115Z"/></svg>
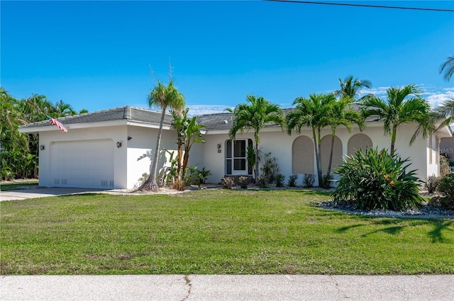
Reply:
<svg viewBox="0 0 454 301"><path fill-rule="evenodd" d="M1 203L1 275L452 274L454 221L348 215L316 191Z"/></svg>

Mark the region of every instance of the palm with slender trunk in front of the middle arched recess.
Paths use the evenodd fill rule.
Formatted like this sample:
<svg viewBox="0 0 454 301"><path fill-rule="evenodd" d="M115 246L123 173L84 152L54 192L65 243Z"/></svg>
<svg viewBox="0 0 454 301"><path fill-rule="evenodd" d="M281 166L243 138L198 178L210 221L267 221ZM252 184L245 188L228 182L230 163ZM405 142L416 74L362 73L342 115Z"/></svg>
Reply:
<svg viewBox="0 0 454 301"><path fill-rule="evenodd" d="M339 125L347 128L348 132L352 131L352 123L356 123L360 127L360 131L364 129L364 118L350 106L351 98L343 97L339 101L335 101L329 112L328 123L331 126L331 152L329 155L328 171L326 174L331 174L331 163L333 161L334 138Z"/></svg>

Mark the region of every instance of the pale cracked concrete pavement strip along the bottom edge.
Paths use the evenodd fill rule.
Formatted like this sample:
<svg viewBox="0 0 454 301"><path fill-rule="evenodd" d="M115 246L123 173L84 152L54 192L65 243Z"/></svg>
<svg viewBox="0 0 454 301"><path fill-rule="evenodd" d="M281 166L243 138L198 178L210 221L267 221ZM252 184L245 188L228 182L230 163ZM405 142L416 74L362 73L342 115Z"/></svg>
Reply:
<svg viewBox="0 0 454 301"><path fill-rule="evenodd" d="M454 300L441 276L2 276L0 300Z"/></svg>

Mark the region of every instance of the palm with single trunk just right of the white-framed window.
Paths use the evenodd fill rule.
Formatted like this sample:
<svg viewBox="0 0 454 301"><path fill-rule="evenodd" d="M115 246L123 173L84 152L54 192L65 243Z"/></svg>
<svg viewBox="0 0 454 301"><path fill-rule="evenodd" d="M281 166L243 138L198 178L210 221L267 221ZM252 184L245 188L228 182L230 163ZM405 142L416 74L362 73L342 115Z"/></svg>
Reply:
<svg viewBox="0 0 454 301"><path fill-rule="evenodd" d="M240 103L235 109L228 108L229 112L233 113L233 125L228 134L231 140L234 140L237 132L243 133L244 130L254 130L255 141L255 180L258 180L258 155L260 143L260 130L267 123L275 123L277 125L284 124L283 110L265 98L259 96L248 95L246 100L250 103Z"/></svg>

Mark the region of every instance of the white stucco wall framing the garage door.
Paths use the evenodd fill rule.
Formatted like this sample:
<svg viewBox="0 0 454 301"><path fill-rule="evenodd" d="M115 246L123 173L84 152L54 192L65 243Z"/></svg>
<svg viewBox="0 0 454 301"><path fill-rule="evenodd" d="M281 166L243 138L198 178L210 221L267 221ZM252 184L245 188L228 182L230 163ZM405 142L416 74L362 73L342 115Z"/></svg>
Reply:
<svg viewBox="0 0 454 301"><path fill-rule="evenodd" d="M57 129L57 128L56 128ZM52 187L52 162L51 162L51 144L64 141L87 141L87 140L105 140L113 142L114 147L114 188L126 187L126 147L116 147L116 142L124 141L126 137L126 125L109 126L109 127L92 127L90 129L71 129L67 133L61 130L42 131L39 135L40 145L45 149L40 151L39 159L39 186Z"/></svg>

